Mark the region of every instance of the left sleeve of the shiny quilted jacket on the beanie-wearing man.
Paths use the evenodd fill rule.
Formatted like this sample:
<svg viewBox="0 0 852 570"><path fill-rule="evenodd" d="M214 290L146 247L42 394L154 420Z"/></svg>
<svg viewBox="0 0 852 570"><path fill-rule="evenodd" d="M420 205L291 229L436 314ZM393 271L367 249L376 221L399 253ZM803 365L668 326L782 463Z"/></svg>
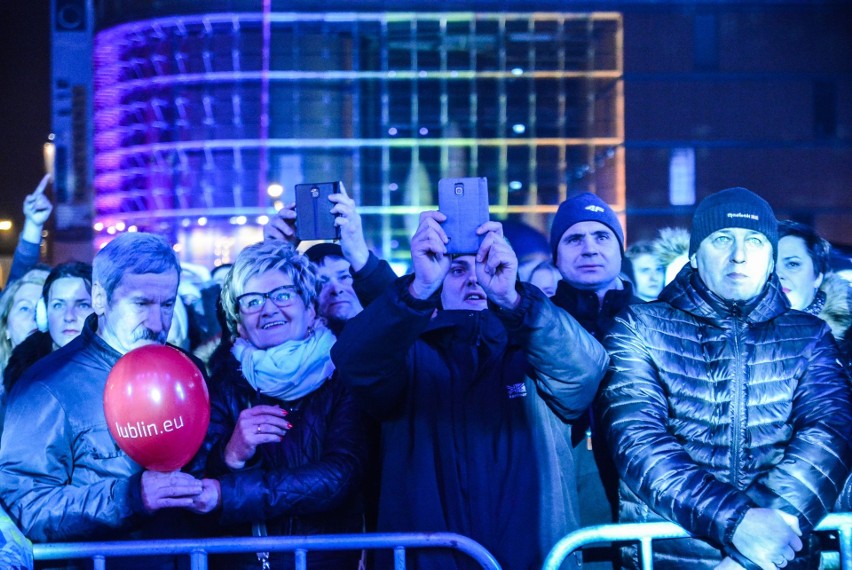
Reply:
<svg viewBox="0 0 852 570"><path fill-rule="evenodd" d="M729 546L745 512L757 505L696 464L667 430L666 394L634 309L616 320L604 345L611 365L598 413L622 480L659 515Z"/></svg>

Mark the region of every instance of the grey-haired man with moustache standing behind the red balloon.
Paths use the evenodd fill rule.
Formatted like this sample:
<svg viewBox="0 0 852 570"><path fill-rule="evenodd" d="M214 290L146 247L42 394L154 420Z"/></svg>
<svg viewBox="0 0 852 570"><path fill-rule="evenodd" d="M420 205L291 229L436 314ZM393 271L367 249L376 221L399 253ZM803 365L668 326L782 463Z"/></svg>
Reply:
<svg viewBox="0 0 852 570"><path fill-rule="evenodd" d="M156 513L192 508L209 491L186 473L143 470L104 418L113 365L166 341L180 271L172 248L152 234L123 234L98 252L93 269L95 314L80 336L33 365L9 400L0 496L36 542L168 533Z"/></svg>

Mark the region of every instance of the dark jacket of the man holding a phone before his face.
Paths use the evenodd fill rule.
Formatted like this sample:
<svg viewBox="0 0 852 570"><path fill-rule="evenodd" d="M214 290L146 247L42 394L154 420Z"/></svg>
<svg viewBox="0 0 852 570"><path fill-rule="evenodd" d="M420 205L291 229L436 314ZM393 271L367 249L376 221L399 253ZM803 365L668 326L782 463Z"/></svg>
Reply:
<svg viewBox="0 0 852 570"><path fill-rule="evenodd" d="M382 421L379 530L457 532L504 568L540 568L577 528L567 422L607 357L566 312L524 284L515 310L438 311L410 277L350 319L332 349L340 378ZM412 553L413 567L469 559Z"/></svg>

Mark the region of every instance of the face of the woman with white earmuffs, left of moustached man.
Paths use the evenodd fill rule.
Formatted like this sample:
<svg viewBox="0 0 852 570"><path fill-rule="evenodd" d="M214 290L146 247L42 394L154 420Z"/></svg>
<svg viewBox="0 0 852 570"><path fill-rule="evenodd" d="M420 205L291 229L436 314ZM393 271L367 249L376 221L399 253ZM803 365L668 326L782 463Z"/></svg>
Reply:
<svg viewBox="0 0 852 570"><path fill-rule="evenodd" d="M65 346L83 330L92 314L92 295L79 277L61 277L47 295L47 328L56 346Z"/></svg>

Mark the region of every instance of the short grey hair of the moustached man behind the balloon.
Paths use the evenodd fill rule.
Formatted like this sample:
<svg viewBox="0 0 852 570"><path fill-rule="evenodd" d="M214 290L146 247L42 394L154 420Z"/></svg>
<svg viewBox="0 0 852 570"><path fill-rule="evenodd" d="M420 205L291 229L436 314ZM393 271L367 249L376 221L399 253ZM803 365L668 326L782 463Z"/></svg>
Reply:
<svg viewBox="0 0 852 570"><path fill-rule="evenodd" d="M92 261L92 282L100 283L107 302L125 274L166 273L170 269L180 279L180 262L172 246L161 236L145 232L121 234L106 244Z"/></svg>

